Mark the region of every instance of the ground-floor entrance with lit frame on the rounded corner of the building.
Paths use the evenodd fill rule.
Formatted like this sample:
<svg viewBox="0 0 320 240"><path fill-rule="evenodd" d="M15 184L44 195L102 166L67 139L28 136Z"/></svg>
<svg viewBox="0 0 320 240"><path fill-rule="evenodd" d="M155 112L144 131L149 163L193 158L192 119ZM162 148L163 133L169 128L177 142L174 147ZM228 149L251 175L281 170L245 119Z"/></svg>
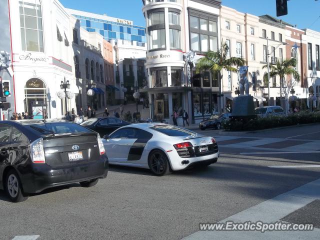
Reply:
<svg viewBox="0 0 320 240"><path fill-rule="evenodd" d="M168 93L152 94L153 113L155 120L169 118Z"/></svg>

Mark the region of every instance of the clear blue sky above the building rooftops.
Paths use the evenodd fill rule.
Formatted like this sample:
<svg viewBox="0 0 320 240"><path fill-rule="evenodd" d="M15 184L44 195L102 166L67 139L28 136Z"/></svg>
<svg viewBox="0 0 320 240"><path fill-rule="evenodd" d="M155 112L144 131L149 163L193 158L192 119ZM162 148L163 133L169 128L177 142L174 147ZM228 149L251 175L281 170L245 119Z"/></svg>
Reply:
<svg viewBox="0 0 320 240"><path fill-rule="evenodd" d="M134 25L144 26L142 0L60 0L67 8L106 14L112 17L133 20ZM89 3L89 4L88 4ZM288 0L288 14L283 21L320 31L320 0ZM222 5L253 15L269 14L276 17L275 0L222 0Z"/></svg>

